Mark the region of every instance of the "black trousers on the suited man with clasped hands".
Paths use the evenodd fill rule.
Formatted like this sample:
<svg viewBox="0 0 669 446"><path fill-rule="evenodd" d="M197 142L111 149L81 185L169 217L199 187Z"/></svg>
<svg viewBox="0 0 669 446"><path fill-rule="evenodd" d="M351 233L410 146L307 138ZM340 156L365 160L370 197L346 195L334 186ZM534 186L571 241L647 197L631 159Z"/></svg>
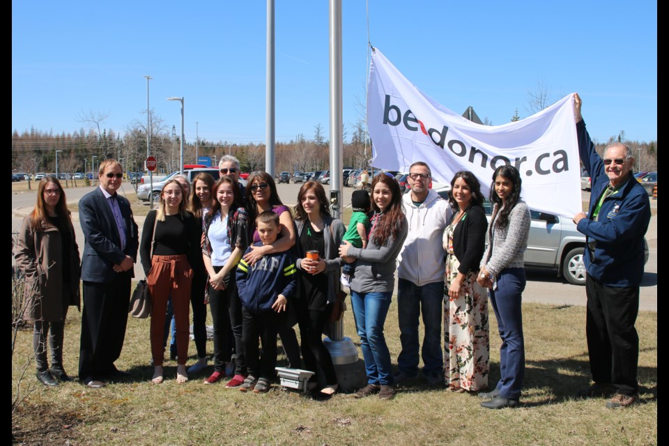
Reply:
<svg viewBox="0 0 669 446"><path fill-rule="evenodd" d="M111 373L114 361L121 356L128 324L130 275L118 275L106 284L84 282L79 379Z"/></svg>

